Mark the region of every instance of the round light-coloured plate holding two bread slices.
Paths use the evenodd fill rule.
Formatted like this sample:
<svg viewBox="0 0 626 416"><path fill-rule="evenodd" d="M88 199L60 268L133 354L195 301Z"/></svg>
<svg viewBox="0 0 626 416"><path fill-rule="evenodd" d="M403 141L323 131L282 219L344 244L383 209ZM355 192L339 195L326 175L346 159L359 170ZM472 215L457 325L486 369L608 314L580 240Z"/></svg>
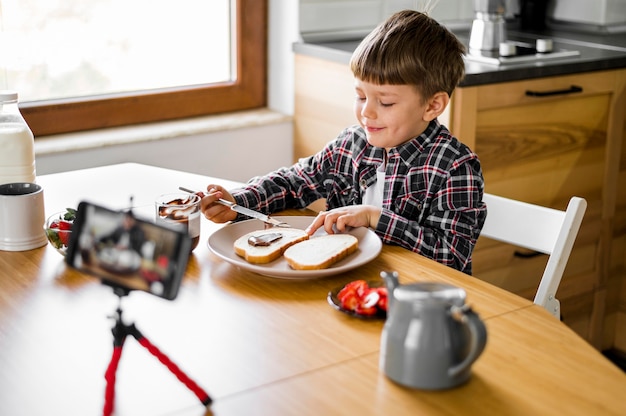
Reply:
<svg viewBox="0 0 626 416"><path fill-rule="evenodd" d="M305 229L313 222L315 217L273 217L280 221L289 223L293 228ZM239 266L242 269L259 273L265 276L280 277L284 279L313 279L325 276L332 276L343 273L348 270L355 269L372 261L378 256L382 249L380 238L372 231L365 227L354 228L349 231L350 234L359 240L358 250L346 257L345 259L333 264L331 267L322 270L294 270L287 264L287 261L280 257L268 264L251 264L243 258L235 254L233 244L235 240L244 234L255 230L262 230L263 223L258 220L246 220L226 225L215 231L209 237L209 249L215 255L226 260L227 262ZM324 235L323 229L317 230L311 238Z"/></svg>

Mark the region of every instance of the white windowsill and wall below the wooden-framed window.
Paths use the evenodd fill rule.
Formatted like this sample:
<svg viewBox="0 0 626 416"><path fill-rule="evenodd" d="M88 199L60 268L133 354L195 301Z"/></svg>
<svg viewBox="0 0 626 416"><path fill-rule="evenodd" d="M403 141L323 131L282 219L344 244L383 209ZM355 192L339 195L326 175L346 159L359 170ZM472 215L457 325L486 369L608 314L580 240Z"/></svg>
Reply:
<svg viewBox="0 0 626 416"><path fill-rule="evenodd" d="M37 174L137 162L245 182L290 164L292 136L269 110L67 134L36 140Z"/></svg>

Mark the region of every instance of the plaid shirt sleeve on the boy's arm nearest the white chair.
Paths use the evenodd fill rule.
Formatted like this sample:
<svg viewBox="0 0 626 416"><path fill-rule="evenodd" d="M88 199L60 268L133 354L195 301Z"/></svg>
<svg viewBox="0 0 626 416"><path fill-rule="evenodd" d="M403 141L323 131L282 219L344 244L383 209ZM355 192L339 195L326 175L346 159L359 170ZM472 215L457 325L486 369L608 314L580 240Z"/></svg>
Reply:
<svg viewBox="0 0 626 416"><path fill-rule="evenodd" d="M469 159L450 171L419 221L383 209L376 233L387 244L471 274L471 253L486 217L483 189L480 165Z"/></svg>

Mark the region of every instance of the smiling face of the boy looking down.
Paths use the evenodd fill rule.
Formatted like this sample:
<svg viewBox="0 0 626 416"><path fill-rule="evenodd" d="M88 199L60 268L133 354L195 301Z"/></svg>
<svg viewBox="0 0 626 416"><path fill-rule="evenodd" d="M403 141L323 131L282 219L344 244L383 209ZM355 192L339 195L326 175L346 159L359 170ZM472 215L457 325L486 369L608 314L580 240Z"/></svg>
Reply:
<svg viewBox="0 0 626 416"><path fill-rule="evenodd" d="M411 85L377 85L355 78L354 113L376 147L390 149L420 135L437 115Z"/></svg>

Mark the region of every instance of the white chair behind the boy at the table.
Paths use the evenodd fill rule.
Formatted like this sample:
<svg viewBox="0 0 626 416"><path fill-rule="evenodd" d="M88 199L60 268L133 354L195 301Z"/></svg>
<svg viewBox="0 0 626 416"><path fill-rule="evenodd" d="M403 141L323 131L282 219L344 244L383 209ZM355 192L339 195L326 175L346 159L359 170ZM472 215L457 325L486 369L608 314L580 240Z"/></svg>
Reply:
<svg viewBox="0 0 626 416"><path fill-rule="evenodd" d="M481 236L549 255L534 303L560 319L556 291L587 209L587 201L572 197L565 211L487 193L483 201L487 204L487 219Z"/></svg>

